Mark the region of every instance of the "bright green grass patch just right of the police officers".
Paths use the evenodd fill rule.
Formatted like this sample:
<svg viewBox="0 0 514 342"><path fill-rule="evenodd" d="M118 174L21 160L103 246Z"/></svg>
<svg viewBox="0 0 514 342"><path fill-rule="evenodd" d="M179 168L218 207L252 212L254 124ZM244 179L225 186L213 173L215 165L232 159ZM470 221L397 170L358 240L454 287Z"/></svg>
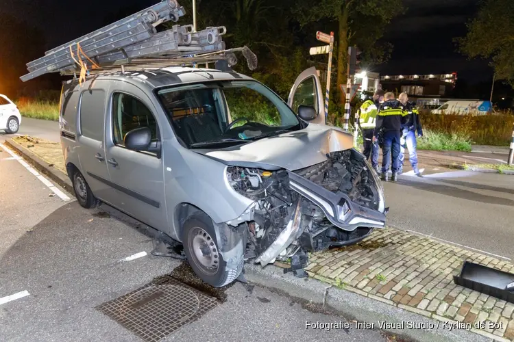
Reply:
<svg viewBox="0 0 514 342"><path fill-rule="evenodd" d="M418 150L461 150L471 152L472 140L461 133L442 133L424 131L424 136L417 140Z"/></svg>

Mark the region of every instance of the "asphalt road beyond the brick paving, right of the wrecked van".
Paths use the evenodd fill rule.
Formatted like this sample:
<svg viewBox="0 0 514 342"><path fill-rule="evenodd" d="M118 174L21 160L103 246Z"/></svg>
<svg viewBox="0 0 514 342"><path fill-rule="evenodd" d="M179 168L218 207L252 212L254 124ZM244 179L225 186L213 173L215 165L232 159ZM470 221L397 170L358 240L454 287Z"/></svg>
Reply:
<svg viewBox="0 0 514 342"><path fill-rule="evenodd" d="M384 190L389 225L514 260L514 176L405 174Z"/></svg>

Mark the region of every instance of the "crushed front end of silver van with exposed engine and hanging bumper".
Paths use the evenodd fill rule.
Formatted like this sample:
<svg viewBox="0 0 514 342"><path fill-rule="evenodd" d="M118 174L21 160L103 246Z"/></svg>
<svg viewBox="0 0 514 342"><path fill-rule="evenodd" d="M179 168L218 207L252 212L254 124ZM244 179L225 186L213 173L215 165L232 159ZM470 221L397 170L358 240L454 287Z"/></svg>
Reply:
<svg viewBox="0 0 514 342"><path fill-rule="evenodd" d="M323 136L325 146L316 151L321 158L296 170L229 163L228 183L254 201L243 215L226 222L246 226L245 259L265 266L302 254L303 264L295 265L302 268L306 252L356 244L374 228L384 228L387 208L382 183L362 154L354 148L341 150L339 142L347 142L344 135L328 129ZM303 164L310 162L302 160Z"/></svg>

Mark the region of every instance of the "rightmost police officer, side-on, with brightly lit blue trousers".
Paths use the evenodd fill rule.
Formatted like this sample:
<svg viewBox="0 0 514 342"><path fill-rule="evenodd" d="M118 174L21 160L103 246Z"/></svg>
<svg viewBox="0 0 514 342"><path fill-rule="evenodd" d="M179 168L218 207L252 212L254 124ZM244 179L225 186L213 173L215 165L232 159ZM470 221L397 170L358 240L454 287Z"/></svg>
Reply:
<svg viewBox="0 0 514 342"><path fill-rule="evenodd" d="M423 136L423 129L421 129L421 121L419 120L419 112L415 103L408 101L408 96L405 92L402 92L398 96L398 101L405 106L408 112L409 120L402 130L402 139L400 140L400 155L398 155L398 173L401 174L403 171L404 159L405 159L405 148L408 148L408 159L411 161L411 166L416 176L421 177L421 172L417 167L417 151L416 151L416 134L417 137Z"/></svg>

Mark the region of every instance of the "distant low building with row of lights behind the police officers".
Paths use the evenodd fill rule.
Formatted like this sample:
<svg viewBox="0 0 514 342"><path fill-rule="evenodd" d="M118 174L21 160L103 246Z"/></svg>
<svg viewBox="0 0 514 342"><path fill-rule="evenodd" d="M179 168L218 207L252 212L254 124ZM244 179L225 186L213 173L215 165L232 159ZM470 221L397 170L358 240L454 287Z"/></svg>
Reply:
<svg viewBox="0 0 514 342"><path fill-rule="evenodd" d="M406 92L412 98L447 97L455 88L457 74L442 75L384 75L380 77L382 89Z"/></svg>

